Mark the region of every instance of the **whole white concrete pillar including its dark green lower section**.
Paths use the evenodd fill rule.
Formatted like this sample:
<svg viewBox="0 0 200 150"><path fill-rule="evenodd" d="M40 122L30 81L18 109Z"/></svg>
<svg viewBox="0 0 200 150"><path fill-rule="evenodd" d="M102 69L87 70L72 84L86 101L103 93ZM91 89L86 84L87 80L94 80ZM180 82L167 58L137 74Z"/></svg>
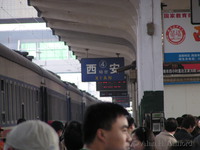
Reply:
<svg viewBox="0 0 200 150"><path fill-rule="evenodd" d="M163 55L160 0L140 0L137 41L138 105L144 113L163 110Z"/></svg>

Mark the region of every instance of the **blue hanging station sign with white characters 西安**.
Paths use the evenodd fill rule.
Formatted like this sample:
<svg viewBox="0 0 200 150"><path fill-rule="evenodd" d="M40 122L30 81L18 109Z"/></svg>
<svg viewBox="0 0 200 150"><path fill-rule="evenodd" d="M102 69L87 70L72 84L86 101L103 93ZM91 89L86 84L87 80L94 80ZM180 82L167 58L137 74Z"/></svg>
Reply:
<svg viewBox="0 0 200 150"><path fill-rule="evenodd" d="M124 80L124 72L117 69L124 66L124 58L82 58L82 82Z"/></svg>

